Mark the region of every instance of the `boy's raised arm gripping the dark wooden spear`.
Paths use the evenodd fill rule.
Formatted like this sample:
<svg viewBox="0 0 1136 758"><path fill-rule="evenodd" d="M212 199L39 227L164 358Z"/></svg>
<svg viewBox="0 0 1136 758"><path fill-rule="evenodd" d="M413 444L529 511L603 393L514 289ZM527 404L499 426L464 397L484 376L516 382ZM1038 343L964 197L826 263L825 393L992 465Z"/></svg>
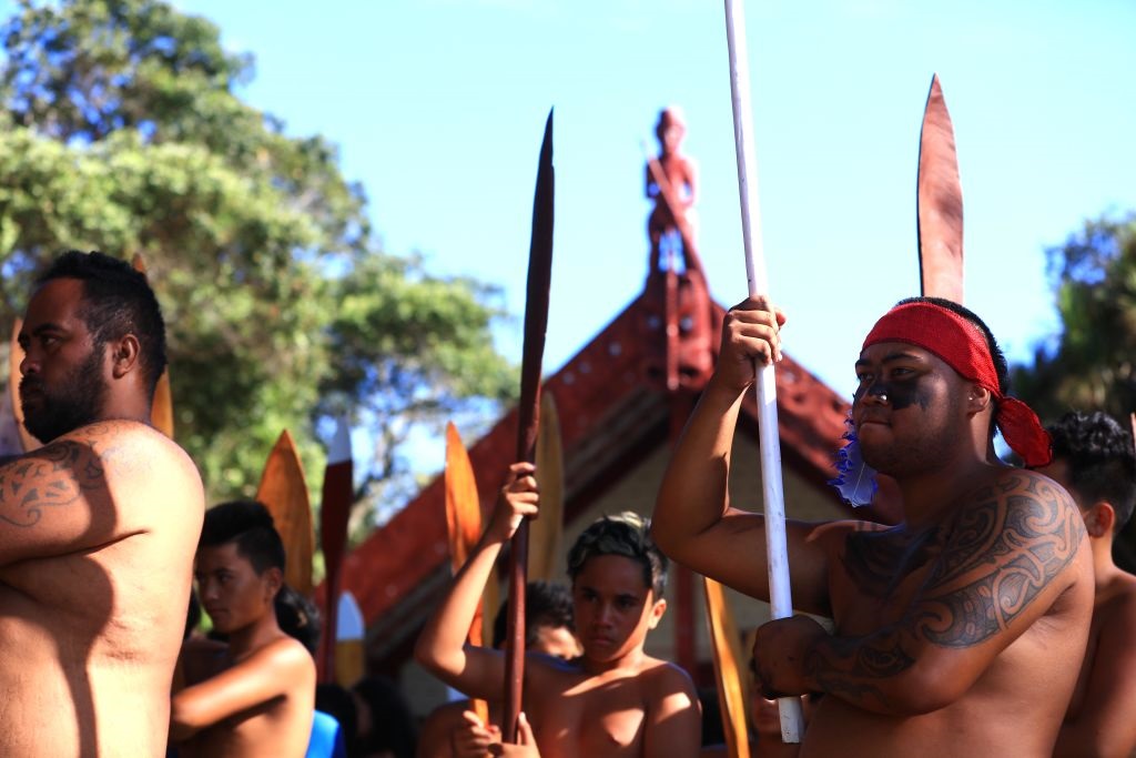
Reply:
<svg viewBox="0 0 1136 758"><path fill-rule="evenodd" d="M536 515L535 470L532 464L525 463L509 467L509 476L485 533L415 645L415 658L421 666L473 698L501 700L504 697L504 658L496 650L466 644L466 638L501 545L517 531L523 517Z"/></svg>

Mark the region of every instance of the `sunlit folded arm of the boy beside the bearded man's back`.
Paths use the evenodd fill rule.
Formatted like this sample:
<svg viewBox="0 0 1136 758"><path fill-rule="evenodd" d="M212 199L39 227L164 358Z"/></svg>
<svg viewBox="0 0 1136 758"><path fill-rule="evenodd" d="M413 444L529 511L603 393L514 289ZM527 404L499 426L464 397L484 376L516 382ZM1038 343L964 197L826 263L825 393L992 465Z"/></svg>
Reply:
<svg viewBox="0 0 1136 758"><path fill-rule="evenodd" d="M301 689L315 692L315 688L311 655L292 638L283 638L220 674L175 693L169 736L175 742L187 740L229 716Z"/></svg>

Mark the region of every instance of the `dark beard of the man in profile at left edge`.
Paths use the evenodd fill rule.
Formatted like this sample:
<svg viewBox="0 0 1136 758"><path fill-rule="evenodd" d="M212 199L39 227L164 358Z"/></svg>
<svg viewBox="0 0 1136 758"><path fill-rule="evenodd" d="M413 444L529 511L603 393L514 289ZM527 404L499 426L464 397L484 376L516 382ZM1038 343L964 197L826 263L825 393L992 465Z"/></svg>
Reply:
<svg viewBox="0 0 1136 758"><path fill-rule="evenodd" d="M28 394L40 395L37 406L28 407ZM91 355L68 372L55 388L48 386L35 375L25 376L19 382L24 426L44 444L97 420L106 395L101 345L95 345Z"/></svg>

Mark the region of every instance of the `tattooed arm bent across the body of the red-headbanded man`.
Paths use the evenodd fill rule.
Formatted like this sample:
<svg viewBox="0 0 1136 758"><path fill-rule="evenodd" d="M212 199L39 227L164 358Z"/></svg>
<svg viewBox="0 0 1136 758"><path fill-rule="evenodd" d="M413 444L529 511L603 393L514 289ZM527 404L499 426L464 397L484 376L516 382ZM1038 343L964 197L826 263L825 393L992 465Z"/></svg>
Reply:
<svg viewBox="0 0 1136 758"><path fill-rule="evenodd" d="M921 652L963 651L999 634L1011 634L1009 644L1022 631L1011 628L1013 622L1072 563L1084 523L1063 490L1025 472L983 488L970 502L945 527L942 551L897 623L866 636L827 638L810 651L805 674L824 691L888 713L899 705L888 681L914 666ZM852 551L845 561L862 575L863 558ZM904 563L900 561L895 570L904 570Z"/></svg>

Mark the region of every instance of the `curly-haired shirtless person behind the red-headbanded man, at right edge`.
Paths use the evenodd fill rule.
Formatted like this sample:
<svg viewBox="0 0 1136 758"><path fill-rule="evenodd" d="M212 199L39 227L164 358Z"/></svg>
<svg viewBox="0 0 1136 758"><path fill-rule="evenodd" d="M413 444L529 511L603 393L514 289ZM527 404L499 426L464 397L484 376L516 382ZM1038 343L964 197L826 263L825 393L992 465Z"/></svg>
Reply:
<svg viewBox="0 0 1136 758"><path fill-rule="evenodd" d="M1131 434L1102 413L1067 414L1049 427L1053 463L1085 518L1096 575L1088 650L1054 756L1128 756L1136 748L1136 576L1112 561L1112 540L1136 505Z"/></svg>

